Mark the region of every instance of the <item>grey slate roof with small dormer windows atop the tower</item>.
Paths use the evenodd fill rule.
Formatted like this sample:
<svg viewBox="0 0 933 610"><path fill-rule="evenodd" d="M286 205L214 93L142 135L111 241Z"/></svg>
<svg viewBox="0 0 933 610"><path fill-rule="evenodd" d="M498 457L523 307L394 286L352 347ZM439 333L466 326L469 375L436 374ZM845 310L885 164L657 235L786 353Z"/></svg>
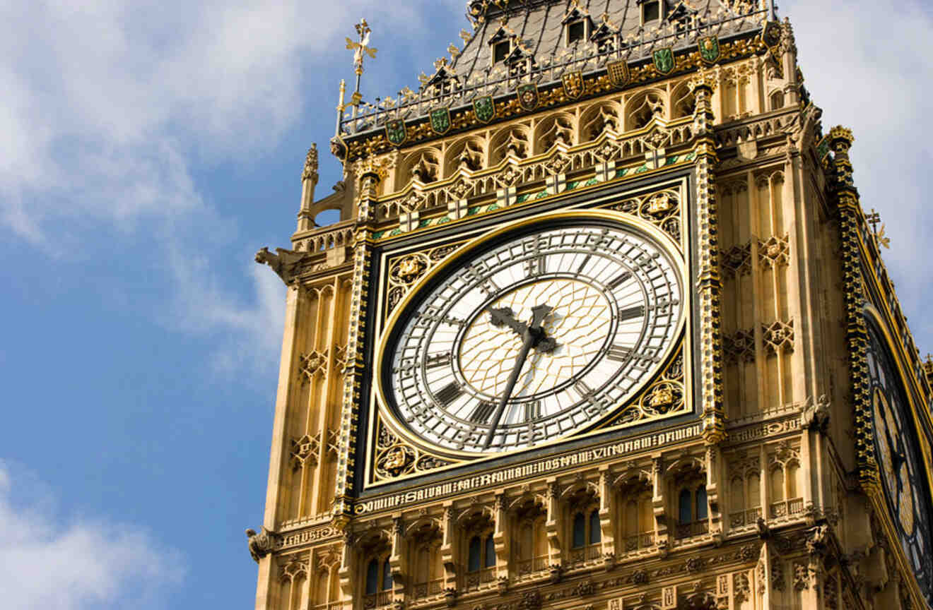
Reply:
<svg viewBox="0 0 933 610"><path fill-rule="evenodd" d="M378 107L364 104L355 118L348 110L341 121L341 136L353 138L382 129L391 119L416 120L438 105L453 108L484 95L514 93L519 80L536 82L540 87L559 82L567 71L592 74L605 69L610 61L649 61L652 50L658 47L673 47L676 53L695 47L702 36L729 40L757 32L767 18L769 0L661 0L664 18L643 28L641 5L645 1L471 0L466 11L473 32L453 61L436 64L417 91L407 89L398 100L388 98ZM570 20L590 20L590 39L565 44L568 15ZM611 47L601 47L592 34L610 39ZM514 41L511 55L506 62L493 65L491 41L507 37ZM523 64L525 72L510 72L511 63Z"/></svg>

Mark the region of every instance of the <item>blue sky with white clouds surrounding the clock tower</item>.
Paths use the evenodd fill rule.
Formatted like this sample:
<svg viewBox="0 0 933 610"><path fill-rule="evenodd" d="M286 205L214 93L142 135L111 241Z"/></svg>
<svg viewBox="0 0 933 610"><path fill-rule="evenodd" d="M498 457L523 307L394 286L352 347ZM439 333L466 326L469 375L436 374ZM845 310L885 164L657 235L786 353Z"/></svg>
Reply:
<svg viewBox="0 0 933 610"><path fill-rule="evenodd" d="M395 96L468 27L461 0L0 0L0 590L17 608L247 608L285 290L311 142L333 133L343 37ZM798 6L799 5L799 6ZM856 184L933 351L933 186L915 0L788 2L824 125L854 129ZM884 23L879 31L878 25ZM318 197L340 179L322 154Z"/></svg>

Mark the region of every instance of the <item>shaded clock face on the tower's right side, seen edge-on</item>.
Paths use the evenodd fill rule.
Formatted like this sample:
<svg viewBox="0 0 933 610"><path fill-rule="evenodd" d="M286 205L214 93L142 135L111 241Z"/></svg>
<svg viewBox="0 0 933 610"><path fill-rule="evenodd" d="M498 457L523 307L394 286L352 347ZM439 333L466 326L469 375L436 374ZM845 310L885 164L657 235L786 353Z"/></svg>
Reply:
<svg viewBox="0 0 933 610"><path fill-rule="evenodd" d="M933 555L926 483L896 370L878 333L869 324L868 364L875 457L884 496L898 526L901 546L926 599L933 602Z"/></svg>

